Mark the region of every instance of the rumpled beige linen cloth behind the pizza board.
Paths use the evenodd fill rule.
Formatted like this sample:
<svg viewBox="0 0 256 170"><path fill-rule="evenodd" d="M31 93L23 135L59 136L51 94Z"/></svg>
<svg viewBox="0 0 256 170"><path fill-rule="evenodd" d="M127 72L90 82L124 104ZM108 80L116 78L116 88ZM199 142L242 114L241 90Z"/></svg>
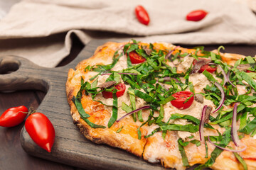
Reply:
<svg viewBox="0 0 256 170"><path fill-rule="evenodd" d="M137 21L134 8L139 4L149 13L149 26ZM196 9L208 11L206 18L186 21L186 14ZM102 37L99 31L107 32ZM0 21L0 55L55 67L69 54L72 33L84 44L134 37L193 45L256 44L256 17L245 4L228 0L23 0Z"/></svg>

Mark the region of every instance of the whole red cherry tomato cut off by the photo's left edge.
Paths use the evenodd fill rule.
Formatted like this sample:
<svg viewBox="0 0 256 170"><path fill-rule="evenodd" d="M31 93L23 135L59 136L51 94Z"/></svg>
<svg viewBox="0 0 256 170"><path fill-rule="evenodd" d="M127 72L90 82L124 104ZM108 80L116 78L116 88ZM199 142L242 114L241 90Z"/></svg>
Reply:
<svg viewBox="0 0 256 170"><path fill-rule="evenodd" d="M26 118L27 114L28 108L25 106L9 108L0 116L0 126L8 128L19 125Z"/></svg>

